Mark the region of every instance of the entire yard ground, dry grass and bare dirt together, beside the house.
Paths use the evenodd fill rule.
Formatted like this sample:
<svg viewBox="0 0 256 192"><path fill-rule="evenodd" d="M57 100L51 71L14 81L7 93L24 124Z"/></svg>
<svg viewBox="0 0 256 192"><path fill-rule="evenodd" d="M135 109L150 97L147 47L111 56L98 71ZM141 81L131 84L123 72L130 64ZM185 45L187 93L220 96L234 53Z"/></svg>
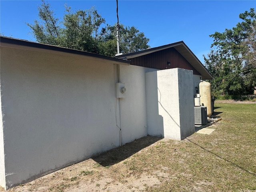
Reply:
<svg viewBox="0 0 256 192"><path fill-rule="evenodd" d="M210 135L147 136L8 192L256 191L256 104L214 106Z"/></svg>

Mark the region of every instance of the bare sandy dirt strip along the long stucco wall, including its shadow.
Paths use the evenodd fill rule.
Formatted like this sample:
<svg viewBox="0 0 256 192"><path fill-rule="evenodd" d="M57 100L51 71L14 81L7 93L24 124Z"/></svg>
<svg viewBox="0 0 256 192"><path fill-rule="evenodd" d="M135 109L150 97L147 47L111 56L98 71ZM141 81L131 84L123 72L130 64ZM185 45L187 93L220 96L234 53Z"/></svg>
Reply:
<svg viewBox="0 0 256 192"><path fill-rule="evenodd" d="M135 192L146 186L160 184L157 176L164 173L165 167L148 173L137 170L129 162L134 154L147 151L158 144L160 138L147 136L122 147L110 150L100 156L68 166L32 182L14 187L8 192ZM162 141L165 139L161 139ZM136 155L135 155L136 156Z"/></svg>

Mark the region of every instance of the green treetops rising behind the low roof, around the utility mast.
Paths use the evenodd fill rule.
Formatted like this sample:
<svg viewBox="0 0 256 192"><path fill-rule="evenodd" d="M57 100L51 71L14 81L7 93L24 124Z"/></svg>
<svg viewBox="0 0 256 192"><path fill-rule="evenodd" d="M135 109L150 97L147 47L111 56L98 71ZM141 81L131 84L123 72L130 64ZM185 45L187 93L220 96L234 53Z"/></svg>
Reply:
<svg viewBox="0 0 256 192"><path fill-rule="evenodd" d="M107 56L116 54L116 26L106 24L97 10L73 12L69 6L63 20L56 18L50 4L42 0L38 7L39 21L27 25L32 29L36 41L76 50L94 52ZM122 26L120 51L124 54L150 48L149 39L134 26Z"/></svg>

